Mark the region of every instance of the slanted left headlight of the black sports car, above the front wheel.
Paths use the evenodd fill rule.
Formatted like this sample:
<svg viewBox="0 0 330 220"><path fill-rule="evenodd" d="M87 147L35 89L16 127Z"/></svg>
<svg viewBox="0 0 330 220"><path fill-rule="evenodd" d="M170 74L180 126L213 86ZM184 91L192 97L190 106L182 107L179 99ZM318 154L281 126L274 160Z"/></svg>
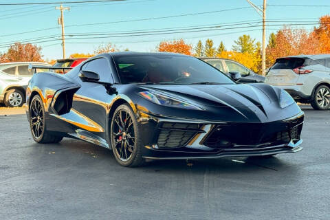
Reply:
<svg viewBox="0 0 330 220"><path fill-rule="evenodd" d="M179 100L177 98L173 98L170 96L166 96L164 94L157 94L151 91L141 91L138 93L143 98L150 100L156 104L165 105L168 107L177 107L181 109L195 109L195 110L203 110L201 107L198 107L195 104L189 104L184 100Z"/></svg>

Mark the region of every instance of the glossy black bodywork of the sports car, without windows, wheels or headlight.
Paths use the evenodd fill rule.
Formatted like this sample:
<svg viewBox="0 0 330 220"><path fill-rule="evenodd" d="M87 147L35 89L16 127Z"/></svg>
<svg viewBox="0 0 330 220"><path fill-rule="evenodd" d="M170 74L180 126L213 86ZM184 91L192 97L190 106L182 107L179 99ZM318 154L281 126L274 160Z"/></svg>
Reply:
<svg viewBox="0 0 330 220"><path fill-rule="evenodd" d="M111 91L79 78L85 63L65 75L34 74L27 89L27 115L30 101L38 94L45 106L47 131L111 148L109 121L115 109L127 103L137 118L142 156L154 159L272 155L302 149L303 112L296 103L280 107L281 89L262 83L122 84L115 56L131 54L153 56L120 52L85 61L106 59L109 66L104 68L109 68L111 74L108 82L113 84ZM142 98L141 91L179 97L201 109L155 104Z"/></svg>

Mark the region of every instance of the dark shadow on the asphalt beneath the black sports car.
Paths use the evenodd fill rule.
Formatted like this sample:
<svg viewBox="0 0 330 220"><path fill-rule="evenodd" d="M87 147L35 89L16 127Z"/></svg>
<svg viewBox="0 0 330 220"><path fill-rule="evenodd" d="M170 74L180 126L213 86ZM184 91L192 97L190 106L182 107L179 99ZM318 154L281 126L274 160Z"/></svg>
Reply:
<svg viewBox="0 0 330 220"><path fill-rule="evenodd" d="M101 159L105 166L120 166L107 148L89 144L80 140L63 140L57 148L65 148L72 153L84 154L86 157ZM64 149L63 149L64 150ZM91 165L91 164L89 164ZM278 171L281 169L294 169L281 157L222 157L217 159L147 159L144 166L135 168L144 172L181 172L190 170L195 173L204 173L212 169L219 173L256 172L259 170Z"/></svg>

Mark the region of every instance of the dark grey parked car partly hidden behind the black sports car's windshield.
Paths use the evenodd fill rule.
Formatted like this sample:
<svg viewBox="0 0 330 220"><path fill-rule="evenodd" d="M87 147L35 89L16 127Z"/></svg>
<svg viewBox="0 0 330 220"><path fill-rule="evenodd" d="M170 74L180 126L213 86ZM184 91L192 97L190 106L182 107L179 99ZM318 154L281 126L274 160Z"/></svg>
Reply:
<svg viewBox="0 0 330 220"><path fill-rule="evenodd" d="M236 61L225 58L201 57L200 59L206 61L225 74L229 74L229 72L239 72L242 78L237 83L263 83L265 81L264 76L256 74L251 69L248 69L248 67Z"/></svg>

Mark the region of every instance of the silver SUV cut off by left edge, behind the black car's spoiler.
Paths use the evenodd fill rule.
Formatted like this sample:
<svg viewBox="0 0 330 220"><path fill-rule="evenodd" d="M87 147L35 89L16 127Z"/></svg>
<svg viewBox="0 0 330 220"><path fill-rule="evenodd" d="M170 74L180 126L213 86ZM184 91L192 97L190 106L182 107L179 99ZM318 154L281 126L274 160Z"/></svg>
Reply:
<svg viewBox="0 0 330 220"><path fill-rule="evenodd" d="M21 107L24 104L25 89L33 75L33 71L28 69L30 63L50 66L39 62L0 63L0 103L7 107Z"/></svg>

